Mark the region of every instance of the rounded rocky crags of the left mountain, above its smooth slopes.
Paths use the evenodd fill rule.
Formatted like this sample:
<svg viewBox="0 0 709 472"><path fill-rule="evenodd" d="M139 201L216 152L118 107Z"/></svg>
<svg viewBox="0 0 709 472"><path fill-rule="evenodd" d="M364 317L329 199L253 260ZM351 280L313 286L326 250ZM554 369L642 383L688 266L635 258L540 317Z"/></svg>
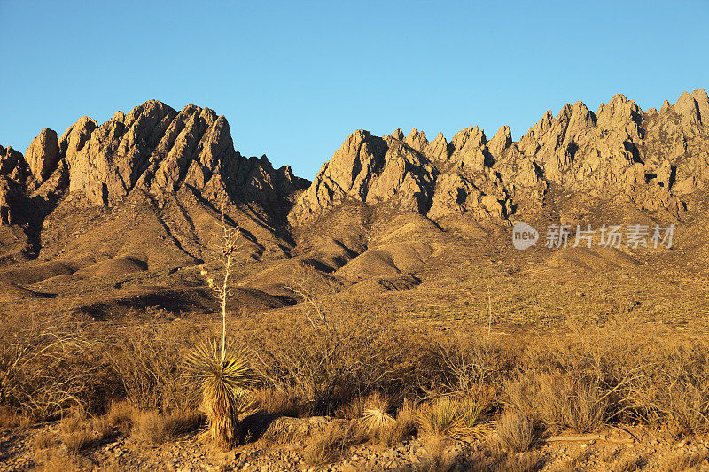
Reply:
<svg viewBox="0 0 709 472"><path fill-rule="evenodd" d="M21 197L56 200L81 195L87 205L114 205L133 190L154 195L190 187L207 198L280 205L306 181L266 157L234 150L229 123L208 108L176 112L151 100L98 125L82 117L58 137L35 137L22 156L0 147L0 206L12 221Z"/></svg>

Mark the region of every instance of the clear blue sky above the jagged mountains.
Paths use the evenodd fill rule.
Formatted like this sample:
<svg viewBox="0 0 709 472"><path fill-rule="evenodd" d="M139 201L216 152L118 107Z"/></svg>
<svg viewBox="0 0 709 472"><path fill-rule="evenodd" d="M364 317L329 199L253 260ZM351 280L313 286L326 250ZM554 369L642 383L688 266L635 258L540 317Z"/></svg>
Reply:
<svg viewBox="0 0 709 472"><path fill-rule="evenodd" d="M4 146L156 98L213 108L242 154L310 179L358 128L518 139L566 102L709 89L708 0L0 0L0 32Z"/></svg>

